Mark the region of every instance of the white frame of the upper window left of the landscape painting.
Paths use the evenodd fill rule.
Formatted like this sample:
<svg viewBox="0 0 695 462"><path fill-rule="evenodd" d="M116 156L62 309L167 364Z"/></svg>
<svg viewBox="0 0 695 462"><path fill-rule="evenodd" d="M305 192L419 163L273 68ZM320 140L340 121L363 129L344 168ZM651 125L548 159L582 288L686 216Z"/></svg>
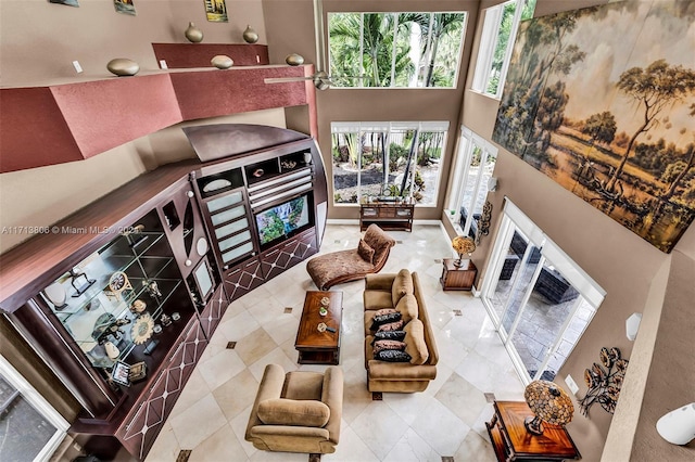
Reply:
<svg viewBox="0 0 695 462"><path fill-rule="evenodd" d="M484 10L480 44L478 46L478 57L476 60L476 69L473 72L473 80L471 85L472 91L494 98L495 100L500 100L502 98L509 62L511 61L514 43L516 41L519 24L521 23L521 15L527 1L528 0L507 0ZM514 18L511 20L511 29L509 30L509 39L507 40L502 68L500 69L497 90L495 93L491 93L488 91L488 88L490 87L490 80L492 78L491 73L495 50L500 41L500 28L502 27L502 20L504 18L503 13L506 5L510 3L516 3Z"/></svg>

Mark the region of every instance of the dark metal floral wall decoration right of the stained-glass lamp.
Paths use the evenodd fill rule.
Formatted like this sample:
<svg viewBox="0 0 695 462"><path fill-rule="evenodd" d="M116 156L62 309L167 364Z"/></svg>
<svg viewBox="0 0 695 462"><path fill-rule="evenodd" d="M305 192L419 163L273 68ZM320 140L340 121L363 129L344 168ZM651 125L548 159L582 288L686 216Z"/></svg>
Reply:
<svg viewBox="0 0 695 462"><path fill-rule="evenodd" d="M622 359L618 348L602 348L598 355L601 364L594 362L590 369L584 370L584 383L586 395L579 400L579 406L584 415L594 402L598 402L606 412L614 413L620 388L624 382L628 360ZM603 367L602 367L603 364Z"/></svg>

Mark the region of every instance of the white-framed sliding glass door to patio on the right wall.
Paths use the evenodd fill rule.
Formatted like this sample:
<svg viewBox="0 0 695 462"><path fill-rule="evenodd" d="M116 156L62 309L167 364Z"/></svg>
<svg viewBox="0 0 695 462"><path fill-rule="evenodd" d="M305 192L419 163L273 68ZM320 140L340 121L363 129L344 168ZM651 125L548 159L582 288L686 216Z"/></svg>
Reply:
<svg viewBox="0 0 695 462"><path fill-rule="evenodd" d="M497 234L491 277L483 281L483 304L519 375L527 383L552 381L604 292L510 204Z"/></svg>

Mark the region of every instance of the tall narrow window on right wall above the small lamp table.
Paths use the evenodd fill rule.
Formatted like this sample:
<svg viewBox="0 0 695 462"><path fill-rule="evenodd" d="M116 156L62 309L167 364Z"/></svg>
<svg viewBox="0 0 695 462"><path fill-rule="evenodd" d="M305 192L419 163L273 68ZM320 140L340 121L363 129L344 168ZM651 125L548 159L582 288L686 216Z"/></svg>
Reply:
<svg viewBox="0 0 695 462"><path fill-rule="evenodd" d="M454 224L460 226L464 235L476 234L477 220L482 214L496 161L497 149L494 145L462 127L448 209Z"/></svg>

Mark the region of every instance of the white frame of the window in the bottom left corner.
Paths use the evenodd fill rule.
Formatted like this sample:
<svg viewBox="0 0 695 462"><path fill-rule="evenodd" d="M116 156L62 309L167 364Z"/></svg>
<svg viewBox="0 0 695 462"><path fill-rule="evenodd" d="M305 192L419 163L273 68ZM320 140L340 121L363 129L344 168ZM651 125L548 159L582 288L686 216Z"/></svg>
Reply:
<svg viewBox="0 0 695 462"><path fill-rule="evenodd" d="M20 392L22 398L26 399L38 413L55 427L55 433L51 439L48 440L43 449L34 459L35 461L49 460L67 435L70 423L2 355L0 355L0 374L15 390Z"/></svg>

